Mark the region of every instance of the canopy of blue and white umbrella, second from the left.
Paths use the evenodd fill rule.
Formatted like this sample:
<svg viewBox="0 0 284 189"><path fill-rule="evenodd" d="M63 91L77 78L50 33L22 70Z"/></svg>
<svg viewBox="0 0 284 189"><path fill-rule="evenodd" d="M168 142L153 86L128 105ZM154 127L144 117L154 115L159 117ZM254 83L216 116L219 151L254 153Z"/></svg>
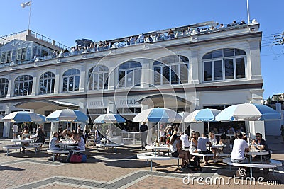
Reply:
<svg viewBox="0 0 284 189"><path fill-rule="evenodd" d="M89 118L87 115L82 113L79 110L70 110L70 109L64 109L64 110L56 110L53 113L50 113L46 117L47 121L50 122L84 122L87 123Z"/></svg>

